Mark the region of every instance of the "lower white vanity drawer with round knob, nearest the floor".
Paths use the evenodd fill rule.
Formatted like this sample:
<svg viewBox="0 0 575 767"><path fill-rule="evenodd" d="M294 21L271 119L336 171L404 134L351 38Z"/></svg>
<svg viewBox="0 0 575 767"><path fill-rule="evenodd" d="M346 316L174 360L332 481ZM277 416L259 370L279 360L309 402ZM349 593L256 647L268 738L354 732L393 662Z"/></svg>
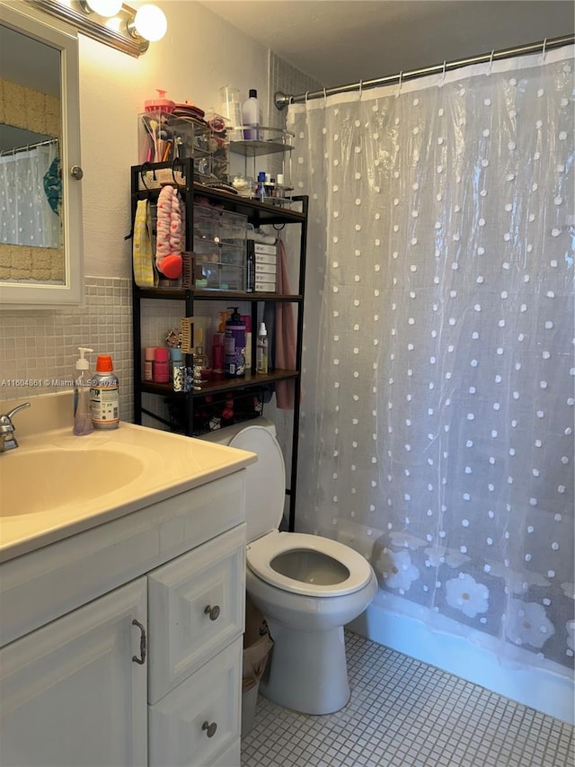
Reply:
<svg viewBox="0 0 575 767"><path fill-rule="evenodd" d="M218 754L230 749L237 752L242 652L239 637L163 700L148 707L148 767L219 764ZM226 767L230 765L226 763Z"/></svg>

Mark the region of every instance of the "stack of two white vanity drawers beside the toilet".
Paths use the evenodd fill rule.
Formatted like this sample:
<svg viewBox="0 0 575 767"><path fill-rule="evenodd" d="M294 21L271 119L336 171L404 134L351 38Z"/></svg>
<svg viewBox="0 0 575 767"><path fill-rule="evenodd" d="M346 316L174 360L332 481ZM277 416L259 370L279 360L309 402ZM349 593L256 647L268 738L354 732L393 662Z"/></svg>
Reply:
<svg viewBox="0 0 575 767"><path fill-rule="evenodd" d="M239 765L244 594L243 525L148 574L149 767Z"/></svg>

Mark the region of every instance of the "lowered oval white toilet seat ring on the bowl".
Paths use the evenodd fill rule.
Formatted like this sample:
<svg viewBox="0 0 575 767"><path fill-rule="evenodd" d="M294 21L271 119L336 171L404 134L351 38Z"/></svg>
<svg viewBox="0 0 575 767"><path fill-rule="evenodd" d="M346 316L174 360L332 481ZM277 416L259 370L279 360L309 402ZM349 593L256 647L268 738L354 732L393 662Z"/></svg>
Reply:
<svg viewBox="0 0 575 767"><path fill-rule="evenodd" d="M287 575L281 575L271 566L274 557L288 551L311 550L332 557L347 567L349 576L339 584L308 584ZM359 591L366 586L372 575L371 566L361 554L337 540L321 538L300 532L272 531L247 547L247 566L262 581L283 591L302 596L334 597Z"/></svg>

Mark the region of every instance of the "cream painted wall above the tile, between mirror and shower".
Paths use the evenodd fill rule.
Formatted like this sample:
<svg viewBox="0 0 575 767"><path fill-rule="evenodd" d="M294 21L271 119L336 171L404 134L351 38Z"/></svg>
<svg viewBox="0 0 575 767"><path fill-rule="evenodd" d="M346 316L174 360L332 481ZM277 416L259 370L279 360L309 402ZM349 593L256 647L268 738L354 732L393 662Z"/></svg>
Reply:
<svg viewBox="0 0 575 767"><path fill-rule="evenodd" d="M84 272L130 277L129 166L137 165L137 115L156 88L175 102L219 108L219 87L247 98L257 88L267 110L268 51L191 0L159 2L163 40L140 58L80 39L80 108L84 167Z"/></svg>

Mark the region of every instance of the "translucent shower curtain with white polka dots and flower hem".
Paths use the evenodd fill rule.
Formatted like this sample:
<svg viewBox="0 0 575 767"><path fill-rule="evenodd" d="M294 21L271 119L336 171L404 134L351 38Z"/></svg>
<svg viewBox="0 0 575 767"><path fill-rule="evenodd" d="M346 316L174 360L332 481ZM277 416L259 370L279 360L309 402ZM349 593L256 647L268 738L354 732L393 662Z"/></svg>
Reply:
<svg viewBox="0 0 575 767"><path fill-rule="evenodd" d="M572 66L563 48L288 111L311 211L296 530L565 665Z"/></svg>

